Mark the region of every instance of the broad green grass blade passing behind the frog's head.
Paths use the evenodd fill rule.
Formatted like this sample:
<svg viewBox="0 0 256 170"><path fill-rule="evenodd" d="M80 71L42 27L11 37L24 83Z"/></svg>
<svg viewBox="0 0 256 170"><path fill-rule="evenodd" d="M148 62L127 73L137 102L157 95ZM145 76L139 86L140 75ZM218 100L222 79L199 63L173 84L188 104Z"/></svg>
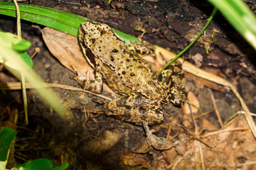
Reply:
<svg viewBox="0 0 256 170"><path fill-rule="evenodd" d="M54 8L29 4L18 4L18 6L21 12L21 19L48 26L73 36L78 36L78 28L83 21L90 21L89 18ZM16 17L14 3L0 2L0 14ZM130 40L132 40L132 42L139 42L139 40L132 35L122 33L119 30L114 31L122 40L127 42L127 44L130 44Z"/></svg>

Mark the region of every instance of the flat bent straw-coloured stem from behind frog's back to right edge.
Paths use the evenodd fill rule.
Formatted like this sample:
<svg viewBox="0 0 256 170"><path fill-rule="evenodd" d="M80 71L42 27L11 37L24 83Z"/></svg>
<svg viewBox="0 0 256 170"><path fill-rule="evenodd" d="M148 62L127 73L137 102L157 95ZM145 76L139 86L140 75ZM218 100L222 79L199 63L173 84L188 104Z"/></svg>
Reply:
<svg viewBox="0 0 256 170"><path fill-rule="evenodd" d="M156 46L156 54L160 55L160 56L164 56L166 60L171 60L172 57L175 57L176 55L172 52L169 52L168 50ZM220 84L223 86L228 86L230 87L230 89L233 91L233 93L235 94L235 96L238 98L238 100L240 101L240 104L243 108L243 110L245 111L245 118L247 120L247 123L250 127L250 130L252 131L252 134L254 135L254 137L256 138L256 125L254 120L252 119L252 115L250 115L250 111L247 108L245 101L243 101L242 97L240 96L240 94L238 93L238 91L235 89L235 87L233 86L233 84L231 84L230 82L228 82L227 80L216 76L213 73L210 72L206 72L203 69L200 69L198 67L196 67L195 65L191 64L190 62L186 62L185 60L183 60L182 58L179 58L178 61L180 61L182 63L182 69L186 72L189 72L197 77L201 77L202 79L207 79L209 81L213 81L216 84Z"/></svg>

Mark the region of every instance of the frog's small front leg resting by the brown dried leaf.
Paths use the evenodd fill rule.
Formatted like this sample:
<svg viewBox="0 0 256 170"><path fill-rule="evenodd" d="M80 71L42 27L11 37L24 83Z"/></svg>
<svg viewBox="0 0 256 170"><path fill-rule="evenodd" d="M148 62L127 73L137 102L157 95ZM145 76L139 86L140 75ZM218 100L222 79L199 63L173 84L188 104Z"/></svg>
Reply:
<svg viewBox="0 0 256 170"><path fill-rule="evenodd" d="M70 78L75 79L83 89L91 91L94 94L101 94L103 91L102 74L100 72L95 71L95 79L82 79L80 74L77 77L72 76Z"/></svg>

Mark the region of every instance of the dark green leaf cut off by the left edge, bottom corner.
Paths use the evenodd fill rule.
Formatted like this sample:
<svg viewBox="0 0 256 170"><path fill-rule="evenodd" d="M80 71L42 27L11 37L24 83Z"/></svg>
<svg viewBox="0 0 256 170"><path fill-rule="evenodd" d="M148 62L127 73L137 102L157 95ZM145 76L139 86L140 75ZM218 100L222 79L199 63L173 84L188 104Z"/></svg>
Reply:
<svg viewBox="0 0 256 170"><path fill-rule="evenodd" d="M0 132L0 169L5 169L9 149L11 148L11 143L16 137L17 131L10 128L2 127Z"/></svg>

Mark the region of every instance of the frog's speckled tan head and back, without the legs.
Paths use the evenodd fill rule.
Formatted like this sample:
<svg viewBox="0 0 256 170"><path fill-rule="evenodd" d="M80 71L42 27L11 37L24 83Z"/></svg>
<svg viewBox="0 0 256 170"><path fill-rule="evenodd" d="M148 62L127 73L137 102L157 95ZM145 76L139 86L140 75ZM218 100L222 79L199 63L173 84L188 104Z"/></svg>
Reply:
<svg viewBox="0 0 256 170"><path fill-rule="evenodd" d="M162 94L151 64L136 52L129 50L110 26L97 26L94 26L93 31L88 29L86 32L90 34L85 36L85 42L90 49L90 52L87 52L90 53L87 54L87 60L91 60L95 69L102 73L106 84L119 94L139 93L149 98Z"/></svg>

